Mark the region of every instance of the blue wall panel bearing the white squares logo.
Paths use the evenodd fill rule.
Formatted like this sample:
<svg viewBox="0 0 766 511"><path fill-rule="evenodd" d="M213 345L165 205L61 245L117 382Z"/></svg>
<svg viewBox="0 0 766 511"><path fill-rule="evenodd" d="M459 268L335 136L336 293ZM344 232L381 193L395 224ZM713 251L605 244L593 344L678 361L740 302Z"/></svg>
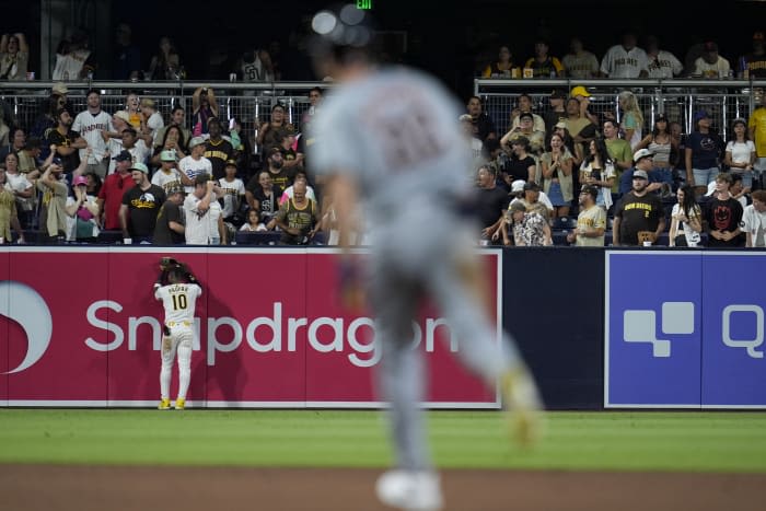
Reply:
<svg viewBox="0 0 766 511"><path fill-rule="evenodd" d="M699 252L607 252L604 407L700 405Z"/></svg>

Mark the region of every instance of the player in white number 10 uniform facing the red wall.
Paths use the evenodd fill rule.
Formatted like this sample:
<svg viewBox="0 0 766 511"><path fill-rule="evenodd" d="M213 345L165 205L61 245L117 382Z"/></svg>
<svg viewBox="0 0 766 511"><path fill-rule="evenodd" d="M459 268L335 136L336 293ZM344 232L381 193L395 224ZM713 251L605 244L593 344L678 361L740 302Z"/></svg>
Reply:
<svg viewBox="0 0 766 511"><path fill-rule="evenodd" d="M186 392L192 380L192 348L194 346L194 310L202 288L184 265L171 257L160 259L162 270L154 283L154 298L162 301L165 323L162 337L162 369L160 370L161 410L171 409L171 378L173 361L178 359L178 396L175 409L186 406Z"/></svg>

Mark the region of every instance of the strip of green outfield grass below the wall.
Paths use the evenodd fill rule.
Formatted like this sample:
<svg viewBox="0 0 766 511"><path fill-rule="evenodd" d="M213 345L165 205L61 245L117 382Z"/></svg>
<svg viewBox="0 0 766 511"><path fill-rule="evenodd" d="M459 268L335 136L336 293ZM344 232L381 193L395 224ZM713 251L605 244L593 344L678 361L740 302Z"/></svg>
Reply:
<svg viewBox="0 0 766 511"><path fill-rule="evenodd" d="M534 449L495 411L431 411L442 468L766 472L766 413L547 413ZM0 463L382 467L383 415L0 409Z"/></svg>

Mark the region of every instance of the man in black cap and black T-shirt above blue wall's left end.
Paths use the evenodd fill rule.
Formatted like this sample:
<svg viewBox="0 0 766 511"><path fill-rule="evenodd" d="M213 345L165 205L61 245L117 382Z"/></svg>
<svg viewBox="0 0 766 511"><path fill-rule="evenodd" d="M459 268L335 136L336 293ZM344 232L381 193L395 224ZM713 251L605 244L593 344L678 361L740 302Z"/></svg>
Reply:
<svg viewBox="0 0 766 511"><path fill-rule="evenodd" d="M646 171L632 173L632 189L617 202L612 224L614 246L653 244L665 230L665 212L655 194L649 194Z"/></svg>

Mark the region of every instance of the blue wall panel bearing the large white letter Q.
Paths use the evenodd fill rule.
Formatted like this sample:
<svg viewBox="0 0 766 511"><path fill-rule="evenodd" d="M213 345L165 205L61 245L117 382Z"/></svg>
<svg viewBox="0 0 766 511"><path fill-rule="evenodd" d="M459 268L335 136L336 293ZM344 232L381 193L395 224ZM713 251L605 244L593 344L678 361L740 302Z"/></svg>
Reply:
<svg viewBox="0 0 766 511"><path fill-rule="evenodd" d="M766 254L705 253L703 407L766 406Z"/></svg>

